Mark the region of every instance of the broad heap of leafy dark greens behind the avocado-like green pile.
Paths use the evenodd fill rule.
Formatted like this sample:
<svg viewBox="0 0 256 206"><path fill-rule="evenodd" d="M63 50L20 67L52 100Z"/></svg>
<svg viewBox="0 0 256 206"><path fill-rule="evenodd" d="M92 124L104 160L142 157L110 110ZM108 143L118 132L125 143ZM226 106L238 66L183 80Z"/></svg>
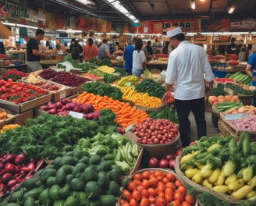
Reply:
<svg viewBox="0 0 256 206"><path fill-rule="evenodd" d="M108 132L94 120L44 113L27 119L24 126L0 133L0 151L52 159L62 155L62 147L76 144L82 137L93 137L98 131Z"/></svg>

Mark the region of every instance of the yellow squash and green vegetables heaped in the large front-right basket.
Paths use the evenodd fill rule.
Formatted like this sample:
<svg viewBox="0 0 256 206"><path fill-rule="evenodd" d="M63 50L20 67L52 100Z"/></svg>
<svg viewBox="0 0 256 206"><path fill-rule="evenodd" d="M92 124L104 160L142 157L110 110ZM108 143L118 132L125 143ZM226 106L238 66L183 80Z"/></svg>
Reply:
<svg viewBox="0 0 256 206"><path fill-rule="evenodd" d="M243 132L235 137L201 137L182 150L180 169L194 183L229 194L236 200L250 199L255 189L255 143Z"/></svg>

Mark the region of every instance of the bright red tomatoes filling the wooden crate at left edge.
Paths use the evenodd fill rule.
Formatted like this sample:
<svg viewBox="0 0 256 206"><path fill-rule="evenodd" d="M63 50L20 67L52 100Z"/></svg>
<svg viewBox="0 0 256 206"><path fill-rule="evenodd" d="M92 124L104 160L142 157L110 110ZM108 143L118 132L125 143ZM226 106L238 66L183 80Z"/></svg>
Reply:
<svg viewBox="0 0 256 206"><path fill-rule="evenodd" d="M30 83L14 82L12 79L0 80L0 98L15 104L30 101L48 92Z"/></svg>

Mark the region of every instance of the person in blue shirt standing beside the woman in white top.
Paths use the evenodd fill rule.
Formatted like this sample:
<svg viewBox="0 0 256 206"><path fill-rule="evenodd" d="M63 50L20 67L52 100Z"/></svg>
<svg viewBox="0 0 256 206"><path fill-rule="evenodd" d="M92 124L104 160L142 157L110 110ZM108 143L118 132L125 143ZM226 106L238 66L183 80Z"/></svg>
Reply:
<svg viewBox="0 0 256 206"><path fill-rule="evenodd" d="M137 37L133 37L133 43L126 46L123 54L123 60L124 60L124 69L126 70L126 73L131 74L132 68L133 68L133 51L135 49L135 41L137 40Z"/></svg>

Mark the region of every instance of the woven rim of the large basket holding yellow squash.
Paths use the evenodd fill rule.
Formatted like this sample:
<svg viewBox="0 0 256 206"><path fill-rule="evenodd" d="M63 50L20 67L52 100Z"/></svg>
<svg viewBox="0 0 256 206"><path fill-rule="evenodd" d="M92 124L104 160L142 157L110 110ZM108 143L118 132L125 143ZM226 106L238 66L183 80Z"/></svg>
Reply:
<svg viewBox="0 0 256 206"><path fill-rule="evenodd" d="M183 174L183 172L180 170L180 159L181 159L181 154L176 157L176 161L174 162L174 169L175 169L177 176L179 176L180 180L183 183L186 183L187 185L194 187L194 189L197 190L198 192L208 192L209 194L212 194L212 196L216 197L217 199L219 199L221 201L226 201L231 205L239 205L242 203L246 205L250 202L250 201L237 201L236 199L234 199L233 197L231 197L227 194L220 194L220 193L215 192L214 190L209 189L205 186L201 186L197 183L194 183L192 180L188 179L187 176L185 176ZM201 203L200 205L207 206L203 203Z"/></svg>

